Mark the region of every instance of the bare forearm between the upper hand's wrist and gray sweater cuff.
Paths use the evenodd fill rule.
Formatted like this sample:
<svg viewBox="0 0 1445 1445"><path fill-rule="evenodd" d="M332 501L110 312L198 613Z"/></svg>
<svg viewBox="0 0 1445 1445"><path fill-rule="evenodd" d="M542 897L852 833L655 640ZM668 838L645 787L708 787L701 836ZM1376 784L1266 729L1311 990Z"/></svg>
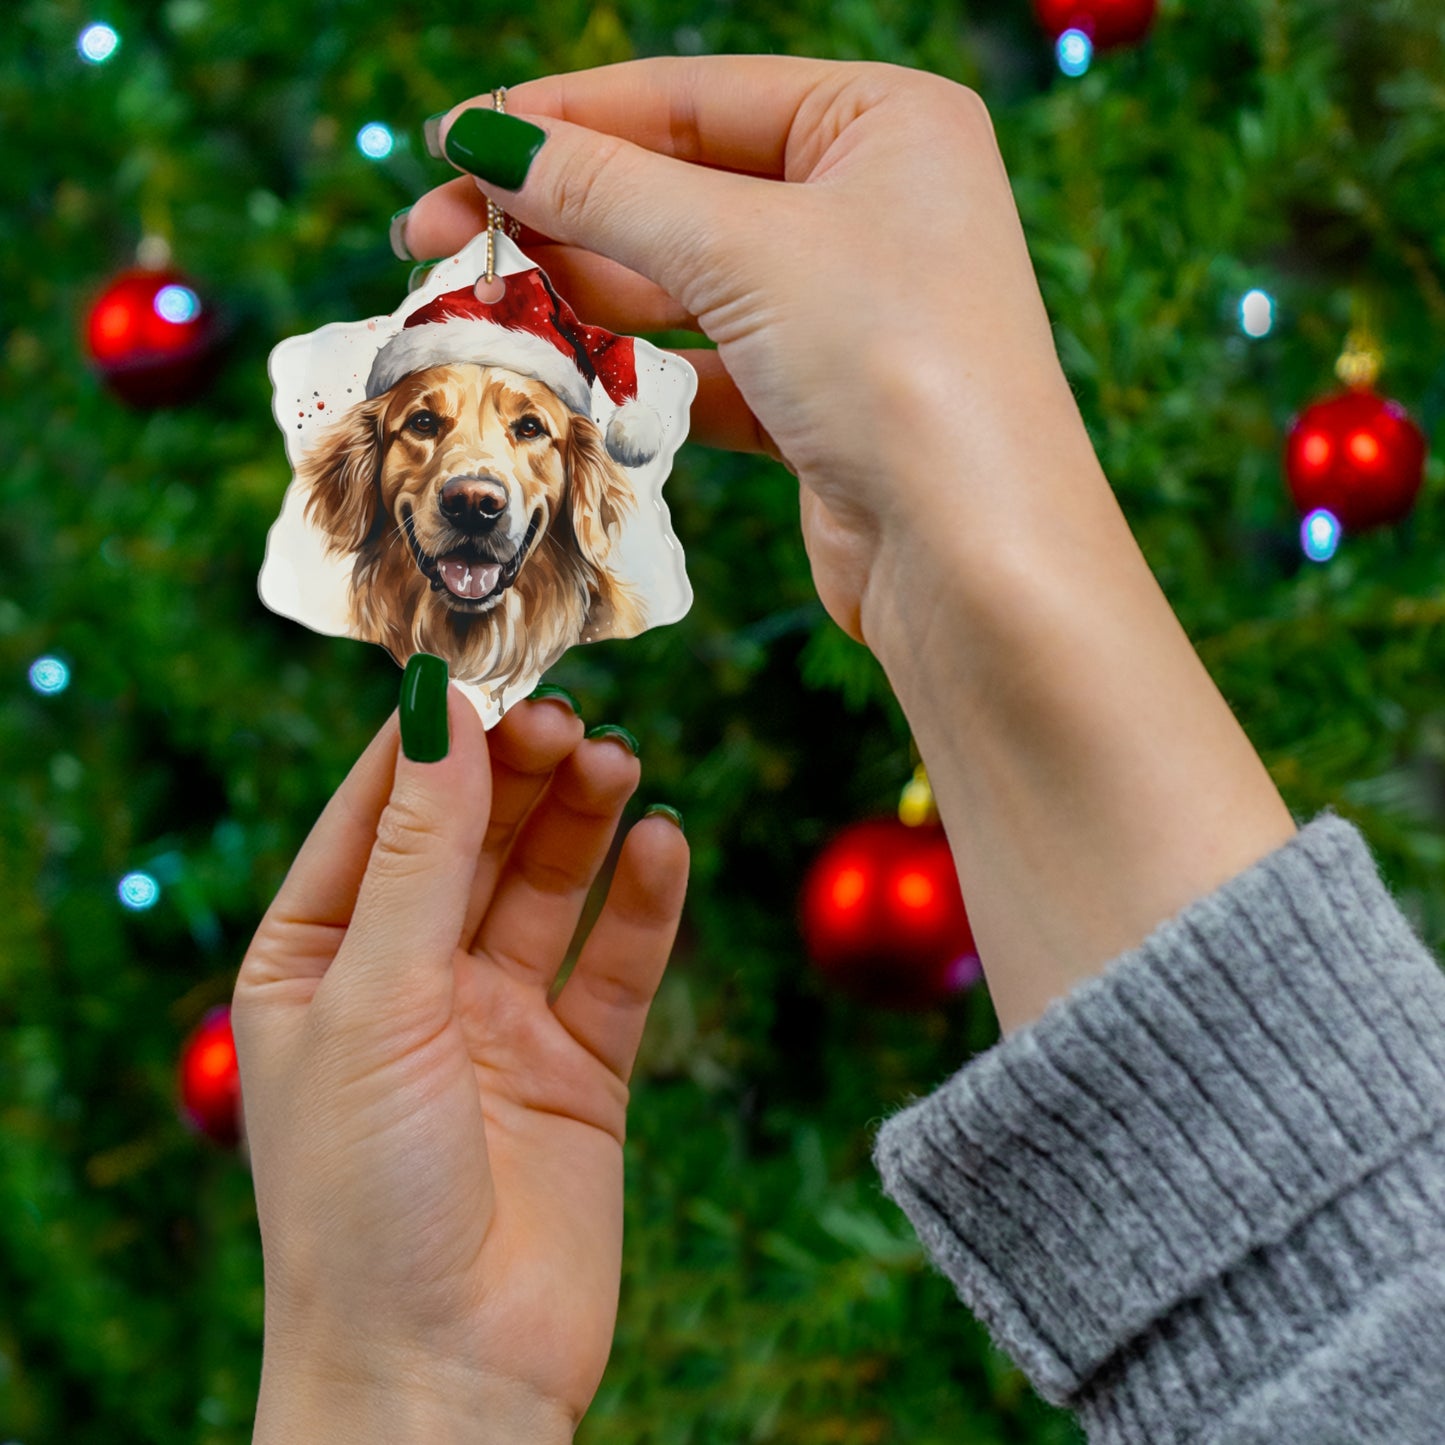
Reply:
<svg viewBox="0 0 1445 1445"><path fill-rule="evenodd" d="M1006 1032L1295 832L1082 425L1046 435L955 525L886 536L863 613Z"/></svg>

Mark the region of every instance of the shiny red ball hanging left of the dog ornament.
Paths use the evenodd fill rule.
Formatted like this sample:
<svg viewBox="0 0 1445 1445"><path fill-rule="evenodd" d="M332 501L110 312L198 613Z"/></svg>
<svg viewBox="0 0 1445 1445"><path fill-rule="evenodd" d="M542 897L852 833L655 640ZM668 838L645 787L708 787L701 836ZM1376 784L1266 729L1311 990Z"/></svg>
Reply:
<svg viewBox="0 0 1445 1445"><path fill-rule="evenodd" d="M131 406L171 406L198 396L215 374L215 318L179 272L129 270L91 306L85 350Z"/></svg>

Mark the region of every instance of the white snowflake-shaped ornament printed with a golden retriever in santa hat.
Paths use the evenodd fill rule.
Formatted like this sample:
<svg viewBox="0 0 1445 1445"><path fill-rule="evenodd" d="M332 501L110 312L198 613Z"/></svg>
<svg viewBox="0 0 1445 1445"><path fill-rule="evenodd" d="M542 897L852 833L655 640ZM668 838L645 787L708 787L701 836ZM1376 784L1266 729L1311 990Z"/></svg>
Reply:
<svg viewBox="0 0 1445 1445"><path fill-rule="evenodd" d="M504 234L390 316L283 341L270 376L293 473L272 611L436 653L490 727L568 647L691 605L662 487L696 374L587 325Z"/></svg>

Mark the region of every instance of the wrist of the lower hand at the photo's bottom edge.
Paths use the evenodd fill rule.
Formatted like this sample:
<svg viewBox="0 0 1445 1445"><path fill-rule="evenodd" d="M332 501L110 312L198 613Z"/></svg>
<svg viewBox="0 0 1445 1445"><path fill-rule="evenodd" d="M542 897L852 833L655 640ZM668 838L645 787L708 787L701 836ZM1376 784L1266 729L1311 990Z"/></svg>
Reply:
<svg viewBox="0 0 1445 1445"><path fill-rule="evenodd" d="M393 1357L358 1370L318 1358L262 1364L253 1445L569 1445L577 1422L520 1380Z"/></svg>

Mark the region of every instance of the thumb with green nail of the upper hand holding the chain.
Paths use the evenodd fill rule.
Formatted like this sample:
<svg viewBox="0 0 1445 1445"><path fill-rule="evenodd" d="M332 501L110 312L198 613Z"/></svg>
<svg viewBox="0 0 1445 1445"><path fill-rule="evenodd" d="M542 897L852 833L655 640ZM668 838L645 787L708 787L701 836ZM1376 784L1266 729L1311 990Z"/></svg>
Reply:
<svg viewBox="0 0 1445 1445"><path fill-rule="evenodd" d="M519 155L532 147L530 165L520 160L525 181L506 189L519 185ZM733 250L733 218L756 210L764 185L552 116L486 107L448 117L442 150L523 225L618 262L689 311L696 280Z"/></svg>

